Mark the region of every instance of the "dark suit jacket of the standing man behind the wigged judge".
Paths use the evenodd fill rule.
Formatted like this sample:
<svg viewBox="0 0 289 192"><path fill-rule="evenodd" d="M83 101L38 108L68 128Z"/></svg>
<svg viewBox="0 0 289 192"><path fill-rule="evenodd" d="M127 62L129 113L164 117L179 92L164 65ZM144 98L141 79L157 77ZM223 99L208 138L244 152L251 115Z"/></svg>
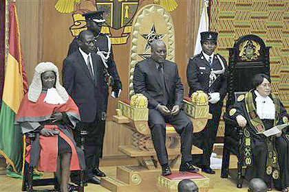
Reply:
<svg viewBox="0 0 289 192"><path fill-rule="evenodd" d="M92 53L92 64L94 79L79 50L63 61L63 86L76 102L83 122L100 119L105 111L107 84L104 82L103 62L96 53Z"/></svg>

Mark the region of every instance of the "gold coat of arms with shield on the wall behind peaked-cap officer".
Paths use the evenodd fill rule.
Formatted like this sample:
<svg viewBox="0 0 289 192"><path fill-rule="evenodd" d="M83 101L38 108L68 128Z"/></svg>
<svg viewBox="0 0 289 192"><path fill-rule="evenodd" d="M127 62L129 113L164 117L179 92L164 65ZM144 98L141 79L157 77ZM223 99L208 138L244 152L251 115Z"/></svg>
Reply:
<svg viewBox="0 0 289 192"><path fill-rule="evenodd" d="M89 1L89 0L87 0ZM122 45L127 43L129 34L131 33L131 22L133 16L138 10L139 0L90 0L94 5L93 8L85 8L82 6L81 0L58 0L54 5L54 8L63 14L73 13L73 25L69 27L72 32L72 36L78 36L78 34L86 30L85 18L83 13L92 10L104 10L103 14L106 22L103 25L101 32L108 34L111 38L112 45ZM83 1L83 3L86 3ZM111 29L122 29L120 35L114 35ZM118 33L119 34L119 33Z"/></svg>

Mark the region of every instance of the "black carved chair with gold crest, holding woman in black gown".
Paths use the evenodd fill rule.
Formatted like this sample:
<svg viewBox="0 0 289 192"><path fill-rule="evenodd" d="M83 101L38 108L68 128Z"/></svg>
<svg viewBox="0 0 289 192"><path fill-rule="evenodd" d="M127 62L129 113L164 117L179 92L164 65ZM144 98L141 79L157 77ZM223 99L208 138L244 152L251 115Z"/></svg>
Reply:
<svg viewBox="0 0 289 192"><path fill-rule="evenodd" d="M228 99L226 101L226 113L231 105L238 99L243 99L246 91L252 86L252 78L257 73L270 75L269 49L264 41L255 35L240 37L229 51L228 62ZM230 173L230 154L237 155L237 176L231 174L237 180L237 187L242 188L244 174L242 168L250 166L252 160L247 154L249 148L246 143L243 130L235 122L225 118L224 151L222 160L222 178L228 178Z"/></svg>

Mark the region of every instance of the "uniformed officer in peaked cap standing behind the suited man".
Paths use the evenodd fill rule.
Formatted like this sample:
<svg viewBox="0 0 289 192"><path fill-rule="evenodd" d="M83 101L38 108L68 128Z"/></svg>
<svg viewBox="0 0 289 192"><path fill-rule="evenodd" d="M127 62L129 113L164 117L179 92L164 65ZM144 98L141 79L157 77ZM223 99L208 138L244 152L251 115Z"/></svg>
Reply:
<svg viewBox="0 0 289 192"><path fill-rule="evenodd" d="M105 76L105 84L107 86L107 95L105 96L105 112L107 111L107 101L109 96L109 76L111 77L111 97L117 98L120 95L120 91L122 89L122 84L120 82L120 77L118 76L118 71L116 69L116 63L114 62L114 53L111 47L111 40L109 36L106 34L100 33L101 27L105 22L103 19L103 10L97 10L93 12L87 12L83 14L85 16L85 20L87 22L87 30L91 31L94 34L94 46L95 53L98 54L103 63L103 75ZM78 43L77 38L74 38L72 43L69 46L68 55L73 53L74 51L78 51ZM105 114L104 114L105 115ZM105 116L104 116L105 118ZM98 123L100 130L105 130L105 121L101 121ZM104 132L103 132L104 135ZM102 154L102 152L101 152ZM105 173L100 171L99 169L99 158L101 156L95 157L95 165L94 165L94 174L96 176L104 177Z"/></svg>

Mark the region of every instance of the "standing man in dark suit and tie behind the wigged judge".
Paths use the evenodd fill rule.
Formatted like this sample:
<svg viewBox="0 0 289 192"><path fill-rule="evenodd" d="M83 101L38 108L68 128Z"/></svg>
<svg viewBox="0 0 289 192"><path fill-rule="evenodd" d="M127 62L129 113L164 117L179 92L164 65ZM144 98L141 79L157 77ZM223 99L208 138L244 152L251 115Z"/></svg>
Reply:
<svg viewBox="0 0 289 192"><path fill-rule="evenodd" d="M98 123L105 121L105 96L107 87L103 76L103 63L94 53L94 34L83 31L78 36L78 50L67 56L63 62L63 86L74 99L81 114L76 125L76 143L85 151L86 182L100 184L94 176L95 156L102 155L103 134Z"/></svg>

